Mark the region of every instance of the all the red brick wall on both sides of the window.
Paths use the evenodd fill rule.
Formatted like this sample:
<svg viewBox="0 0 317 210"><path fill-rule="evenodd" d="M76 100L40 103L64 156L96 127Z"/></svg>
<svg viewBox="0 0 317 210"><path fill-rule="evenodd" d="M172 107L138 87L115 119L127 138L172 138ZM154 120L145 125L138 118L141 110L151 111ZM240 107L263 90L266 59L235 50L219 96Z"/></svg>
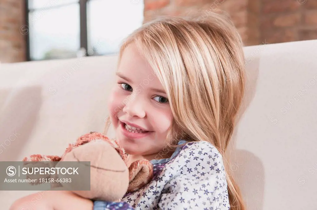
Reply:
<svg viewBox="0 0 317 210"><path fill-rule="evenodd" d="M43 0L44 1L44 0ZM156 15L224 10L244 44L317 39L317 0L144 0L144 21ZM0 61L26 60L23 0L0 0Z"/></svg>

